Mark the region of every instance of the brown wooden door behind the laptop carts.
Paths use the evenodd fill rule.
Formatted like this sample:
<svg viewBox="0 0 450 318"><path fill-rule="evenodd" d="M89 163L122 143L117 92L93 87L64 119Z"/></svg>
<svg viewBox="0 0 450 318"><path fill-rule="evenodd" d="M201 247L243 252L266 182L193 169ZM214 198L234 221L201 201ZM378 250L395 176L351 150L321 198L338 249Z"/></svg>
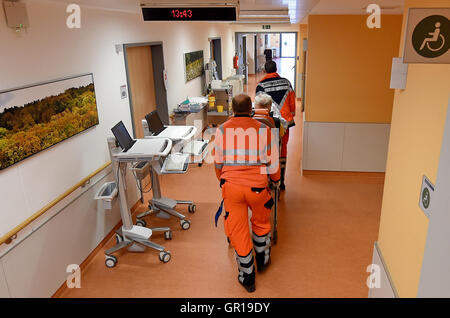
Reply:
<svg viewBox="0 0 450 318"><path fill-rule="evenodd" d="M142 120L156 109L155 79L150 46L127 48L128 81L135 138L143 138Z"/></svg>

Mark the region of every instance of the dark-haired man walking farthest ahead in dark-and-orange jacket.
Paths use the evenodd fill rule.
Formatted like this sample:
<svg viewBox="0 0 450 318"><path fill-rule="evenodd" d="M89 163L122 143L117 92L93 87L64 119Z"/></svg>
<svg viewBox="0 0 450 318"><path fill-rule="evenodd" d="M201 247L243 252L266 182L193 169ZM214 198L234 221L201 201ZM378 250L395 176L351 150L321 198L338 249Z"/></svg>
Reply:
<svg viewBox="0 0 450 318"><path fill-rule="evenodd" d="M286 173L287 144L289 141L289 128L295 125L295 92L292 85L286 78L280 77L277 73L277 64L274 61L267 61L264 65L267 75L256 86L256 95L266 93L272 97L272 100L281 116L286 121L286 132L282 139L280 165L281 165L281 184L280 189L284 190L284 175Z"/></svg>

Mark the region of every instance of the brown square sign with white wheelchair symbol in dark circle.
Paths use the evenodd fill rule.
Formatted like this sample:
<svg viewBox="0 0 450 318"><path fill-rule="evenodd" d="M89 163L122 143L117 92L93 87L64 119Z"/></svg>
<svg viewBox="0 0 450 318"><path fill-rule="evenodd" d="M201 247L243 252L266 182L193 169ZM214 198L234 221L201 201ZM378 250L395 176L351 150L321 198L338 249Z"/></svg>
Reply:
<svg viewBox="0 0 450 318"><path fill-rule="evenodd" d="M450 8L409 9L404 63L450 64Z"/></svg>

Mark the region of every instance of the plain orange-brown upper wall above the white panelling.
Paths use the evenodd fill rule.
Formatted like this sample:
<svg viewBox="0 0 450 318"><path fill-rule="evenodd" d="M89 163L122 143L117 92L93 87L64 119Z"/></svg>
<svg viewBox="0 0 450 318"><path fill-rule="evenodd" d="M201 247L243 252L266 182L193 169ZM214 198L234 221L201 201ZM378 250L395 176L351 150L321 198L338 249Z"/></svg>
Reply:
<svg viewBox="0 0 450 318"><path fill-rule="evenodd" d="M382 16L380 29L369 29L366 19L309 16L307 121L391 122L394 90L389 82L402 16Z"/></svg>

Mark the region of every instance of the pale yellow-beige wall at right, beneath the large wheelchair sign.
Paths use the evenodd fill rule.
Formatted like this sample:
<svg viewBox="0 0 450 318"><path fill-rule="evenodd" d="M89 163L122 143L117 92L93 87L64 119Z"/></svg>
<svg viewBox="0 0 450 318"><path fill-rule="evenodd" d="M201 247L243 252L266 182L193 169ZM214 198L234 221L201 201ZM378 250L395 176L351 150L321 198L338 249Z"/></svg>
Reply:
<svg viewBox="0 0 450 318"><path fill-rule="evenodd" d="M408 8L449 5L448 0L406 0L403 25ZM428 230L419 193L423 175L436 182L449 83L448 64L409 64L406 90L395 92L378 240L401 297L417 295Z"/></svg>

